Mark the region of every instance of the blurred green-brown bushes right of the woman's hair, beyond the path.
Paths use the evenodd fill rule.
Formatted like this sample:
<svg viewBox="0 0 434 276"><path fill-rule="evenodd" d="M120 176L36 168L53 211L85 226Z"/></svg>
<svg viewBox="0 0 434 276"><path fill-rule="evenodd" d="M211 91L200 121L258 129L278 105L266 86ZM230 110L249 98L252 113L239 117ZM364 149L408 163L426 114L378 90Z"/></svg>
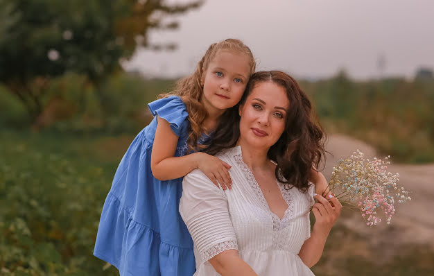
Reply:
<svg viewBox="0 0 434 276"><path fill-rule="evenodd" d="M434 83L401 78L356 83L339 74L302 86L326 130L363 139L397 161L434 162Z"/></svg>

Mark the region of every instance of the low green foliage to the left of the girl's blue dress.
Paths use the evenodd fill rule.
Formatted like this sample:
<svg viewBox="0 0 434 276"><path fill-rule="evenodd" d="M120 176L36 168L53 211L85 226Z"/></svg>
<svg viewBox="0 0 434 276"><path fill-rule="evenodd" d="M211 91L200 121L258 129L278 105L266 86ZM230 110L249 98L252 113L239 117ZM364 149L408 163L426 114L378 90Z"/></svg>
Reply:
<svg viewBox="0 0 434 276"><path fill-rule="evenodd" d="M118 275L92 251L125 144L83 138L0 133L1 275Z"/></svg>

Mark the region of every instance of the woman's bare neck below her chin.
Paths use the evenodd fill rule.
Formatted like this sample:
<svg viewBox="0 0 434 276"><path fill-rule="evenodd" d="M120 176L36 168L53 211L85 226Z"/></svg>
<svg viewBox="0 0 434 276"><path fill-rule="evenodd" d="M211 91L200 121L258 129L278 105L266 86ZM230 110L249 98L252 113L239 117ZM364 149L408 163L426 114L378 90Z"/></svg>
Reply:
<svg viewBox="0 0 434 276"><path fill-rule="evenodd" d="M236 145L241 146L243 162L248 165L250 169L268 169L270 166L270 159L267 157L269 148L257 148L245 143L242 140L238 140Z"/></svg>

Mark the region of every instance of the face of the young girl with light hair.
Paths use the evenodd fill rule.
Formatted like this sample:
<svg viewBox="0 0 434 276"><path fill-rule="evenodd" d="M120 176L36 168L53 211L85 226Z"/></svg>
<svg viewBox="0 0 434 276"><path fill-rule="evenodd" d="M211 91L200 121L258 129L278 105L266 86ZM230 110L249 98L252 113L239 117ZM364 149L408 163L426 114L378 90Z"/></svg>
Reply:
<svg viewBox="0 0 434 276"><path fill-rule="evenodd" d="M249 76L249 59L245 54L218 51L200 80L201 103L210 113L223 113L240 101Z"/></svg>

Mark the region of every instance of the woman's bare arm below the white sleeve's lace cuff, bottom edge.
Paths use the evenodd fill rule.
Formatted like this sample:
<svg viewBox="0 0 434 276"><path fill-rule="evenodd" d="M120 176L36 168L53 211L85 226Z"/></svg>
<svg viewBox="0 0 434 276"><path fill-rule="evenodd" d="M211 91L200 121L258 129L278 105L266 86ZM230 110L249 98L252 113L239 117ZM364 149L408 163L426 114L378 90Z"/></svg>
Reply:
<svg viewBox="0 0 434 276"><path fill-rule="evenodd" d="M218 274L257 276L257 273L238 256L238 250L226 250L209 259Z"/></svg>

